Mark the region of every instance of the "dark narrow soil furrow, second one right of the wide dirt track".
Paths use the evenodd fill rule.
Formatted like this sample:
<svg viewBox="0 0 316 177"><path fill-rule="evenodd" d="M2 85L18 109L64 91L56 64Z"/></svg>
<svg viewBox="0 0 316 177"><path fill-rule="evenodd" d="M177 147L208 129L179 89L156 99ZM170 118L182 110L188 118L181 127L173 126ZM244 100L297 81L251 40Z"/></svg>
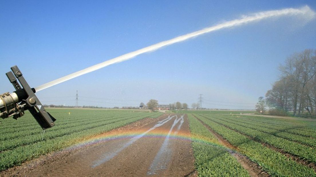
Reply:
<svg viewBox="0 0 316 177"><path fill-rule="evenodd" d="M260 140L257 140L257 139L255 139L255 138L253 138L253 137L251 137L251 136L249 136L249 135L247 135L247 134L244 134L244 133L242 133L242 132L239 132L239 131L237 131L237 130L234 130L234 129L232 129L232 128L229 128L228 126L226 126L226 125L224 125L224 124L221 124L221 123L218 123L218 124L220 124L220 125L222 125L222 126L228 128L228 129L230 129L230 130L233 130L233 131L235 131L235 132L237 132L237 133L240 133L240 134L242 134L242 135L248 137L250 140L253 140L253 141L256 141L256 142L258 142L258 143L261 143L263 146L266 146L266 147L268 147L268 148L270 148L270 149L272 149L272 150L274 150L274 151L280 152L281 154L283 154L283 155L285 155L286 157L288 157L288 158L294 160L295 162L301 163L302 165L305 165L305 166L307 166L307 167L309 167L309 168L312 168L312 169L316 172L316 164L313 163L313 162L310 162L310 161L308 161L308 160L305 160L305 159L302 158L302 157L299 157L299 156L290 154L290 153L288 153L288 152L285 152L285 151L283 151L283 149L277 148L277 147L275 147L275 146L273 146L273 145L270 145L270 144L268 144L268 143L266 143L266 142L262 142L262 141L260 141Z"/></svg>

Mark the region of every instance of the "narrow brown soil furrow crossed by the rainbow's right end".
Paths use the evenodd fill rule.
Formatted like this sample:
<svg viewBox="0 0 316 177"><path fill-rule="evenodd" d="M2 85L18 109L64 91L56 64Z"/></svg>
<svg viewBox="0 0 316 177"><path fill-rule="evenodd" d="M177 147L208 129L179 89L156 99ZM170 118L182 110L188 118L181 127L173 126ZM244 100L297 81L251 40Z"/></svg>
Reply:
<svg viewBox="0 0 316 177"><path fill-rule="evenodd" d="M194 116L195 117L195 116ZM210 132L212 132L217 140L225 147L228 147L229 149L238 151L238 147L233 146L230 144L226 139L224 139L220 134L216 133L212 128L207 126L204 122L202 122L199 118L195 117L197 120L199 120ZM270 176L267 172L265 172L261 166L258 165L258 163L252 162L247 156L242 155L238 152L229 151L229 153L234 156L237 161L240 163L240 165L245 168L250 176L253 177L267 177Z"/></svg>

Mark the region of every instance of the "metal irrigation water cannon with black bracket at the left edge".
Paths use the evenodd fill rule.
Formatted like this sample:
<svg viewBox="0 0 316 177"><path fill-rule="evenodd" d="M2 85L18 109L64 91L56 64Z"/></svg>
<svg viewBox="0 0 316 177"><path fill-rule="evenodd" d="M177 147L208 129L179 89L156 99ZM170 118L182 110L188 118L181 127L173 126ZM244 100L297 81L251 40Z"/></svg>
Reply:
<svg viewBox="0 0 316 177"><path fill-rule="evenodd" d="M16 91L0 95L0 117L4 119L13 116L14 119L17 119L24 115L25 110L28 110L43 129L54 126L56 119L40 103L34 94L36 90L30 88L17 66L11 67L11 70L12 72L9 71L6 75Z"/></svg>

